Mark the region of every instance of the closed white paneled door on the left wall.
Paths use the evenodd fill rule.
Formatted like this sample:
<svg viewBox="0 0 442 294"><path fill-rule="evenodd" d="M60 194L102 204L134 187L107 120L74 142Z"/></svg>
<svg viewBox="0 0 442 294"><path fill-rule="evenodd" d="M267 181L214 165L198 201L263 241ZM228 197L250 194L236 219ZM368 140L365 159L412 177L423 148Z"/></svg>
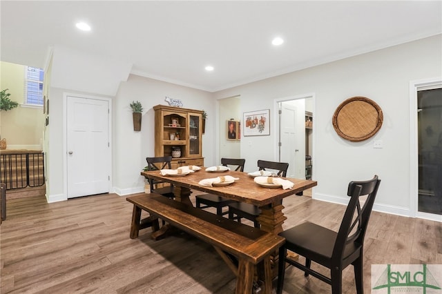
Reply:
<svg viewBox="0 0 442 294"><path fill-rule="evenodd" d="M109 192L108 101L67 97L68 198Z"/></svg>

